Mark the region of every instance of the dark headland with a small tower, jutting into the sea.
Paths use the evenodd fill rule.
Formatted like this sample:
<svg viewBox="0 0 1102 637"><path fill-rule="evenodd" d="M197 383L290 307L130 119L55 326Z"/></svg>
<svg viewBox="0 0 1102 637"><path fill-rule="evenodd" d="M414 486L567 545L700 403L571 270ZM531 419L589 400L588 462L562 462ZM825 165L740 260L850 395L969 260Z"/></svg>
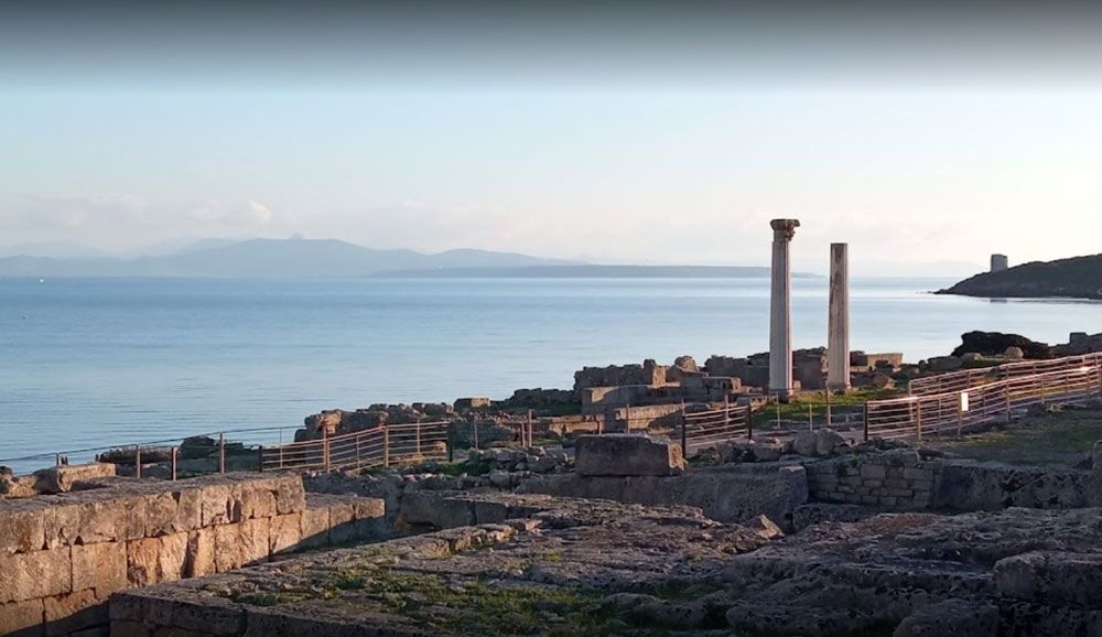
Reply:
<svg viewBox="0 0 1102 637"><path fill-rule="evenodd" d="M1003 270L984 272L938 294L987 298L1072 298L1102 300L1102 255L1057 261L1034 261Z"/></svg>

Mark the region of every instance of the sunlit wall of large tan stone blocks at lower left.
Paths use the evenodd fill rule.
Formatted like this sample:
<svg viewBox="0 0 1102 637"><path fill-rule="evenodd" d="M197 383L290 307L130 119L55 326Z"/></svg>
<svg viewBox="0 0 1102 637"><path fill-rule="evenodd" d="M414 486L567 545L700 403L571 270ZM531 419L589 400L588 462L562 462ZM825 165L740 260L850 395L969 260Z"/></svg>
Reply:
<svg viewBox="0 0 1102 637"><path fill-rule="evenodd" d="M296 475L97 486L0 500L0 635L106 635L116 591L370 537L383 516L367 498L307 504Z"/></svg>

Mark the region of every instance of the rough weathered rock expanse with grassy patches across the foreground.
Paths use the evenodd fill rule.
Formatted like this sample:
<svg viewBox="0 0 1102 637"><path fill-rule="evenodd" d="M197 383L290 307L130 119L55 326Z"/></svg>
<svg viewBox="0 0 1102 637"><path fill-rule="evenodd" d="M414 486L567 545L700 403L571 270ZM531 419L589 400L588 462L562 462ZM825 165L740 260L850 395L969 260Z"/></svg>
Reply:
<svg viewBox="0 0 1102 637"><path fill-rule="evenodd" d="M1100 509L885 514L779 538L689 507L432 497L412 522L473 526L120 593L112 635L1102 634Z"/></svg>

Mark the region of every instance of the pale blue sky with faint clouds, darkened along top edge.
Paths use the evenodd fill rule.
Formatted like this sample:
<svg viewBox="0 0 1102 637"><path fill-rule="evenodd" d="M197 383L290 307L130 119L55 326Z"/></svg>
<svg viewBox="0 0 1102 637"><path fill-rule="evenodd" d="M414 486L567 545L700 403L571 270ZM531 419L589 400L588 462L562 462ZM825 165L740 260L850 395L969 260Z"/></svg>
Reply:
<svg viewBox="0 0 1102 637"><path fill-rule="evenodd" d="M6 3L0 246L942 274L1100 250L1088 3ZM761 7L767 7L763 9Z"/></svg>

